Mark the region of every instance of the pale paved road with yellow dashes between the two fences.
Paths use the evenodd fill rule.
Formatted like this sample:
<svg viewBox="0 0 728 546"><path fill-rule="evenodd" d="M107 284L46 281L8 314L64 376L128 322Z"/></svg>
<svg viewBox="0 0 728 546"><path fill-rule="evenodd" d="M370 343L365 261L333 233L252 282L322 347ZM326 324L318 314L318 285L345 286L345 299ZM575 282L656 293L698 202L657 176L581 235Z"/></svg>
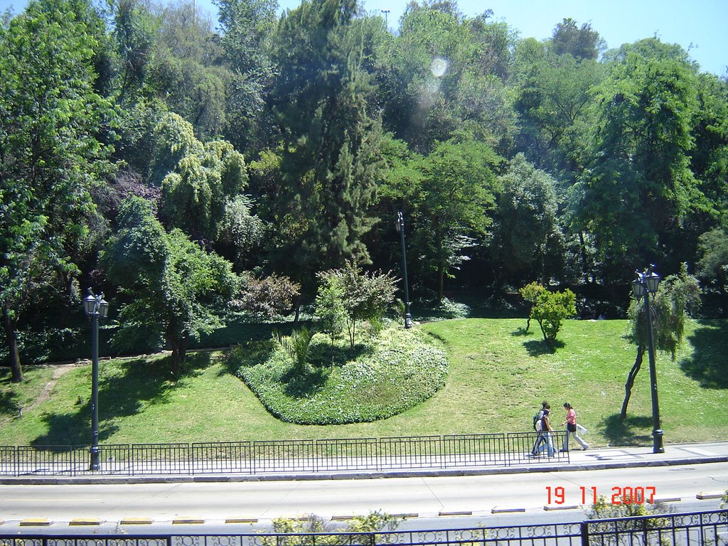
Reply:
<svg viewBox="0 0 728 546"><path fill-rule="evenodd" d="M723 459L721 450L728 452L728 443L670 446L660 455L645 448L633 448L634 453L624 449L585 451L574 454L569 470L534 467L516 474L65 485L9 485L5 480L0 495L0 518L5 523L0 533L20 526L24 532L63 532L71 523L81 522L151 532L149 523L134 525L131 531L127 523L130 518L143 518L168 526L197 521L240 526L312 513L325 519L345 518L371 510L409 515L410 528L416 527L412 523L415 516L423 521L441 518L440 527L454 527L463 525L462 518L477 525L494 513L544 515L545 509L560 518L571 510L578 520L583 515L581 505L589 504L595 491L611 501L612 495L619 500L625 488L665 500L673 510L691 510L689 505L697 502L697 496L708 496L707 507L717 508L716 497L728 489L728 462L706 461ZM677 464L690 453L704 464ZM604 467L617 460L619 467ZM656 462L661 464L654 465ZM454 524L453 518L461 519ZM89 532L88 527L83 529ZM236 528L231 532L246 531Z"/></svg>

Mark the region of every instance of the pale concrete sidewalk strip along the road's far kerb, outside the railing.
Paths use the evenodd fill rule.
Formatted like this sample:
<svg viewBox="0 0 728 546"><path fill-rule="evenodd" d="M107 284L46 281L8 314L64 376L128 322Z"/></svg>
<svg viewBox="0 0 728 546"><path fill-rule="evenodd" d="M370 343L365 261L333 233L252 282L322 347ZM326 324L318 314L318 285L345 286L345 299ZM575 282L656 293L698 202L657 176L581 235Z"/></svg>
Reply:
<svg viewBox="0 0 728 546"><path fill-rule="evenodd" d="M351 480L373 478L414 478L421 476L462 476L525 474L529 472L563 472L566 470L602 470L610 468L655 467L676 464L728 462L728 441L676 443L665 445L665 452L652 453L652 446L572 449L569 462L549 462L534 458L528 464L509 467L413 468L409 470L341 470L333 472L270 472L250 474L200 475L26 475L0 478L0 484L89 484L89 483L194 483L276 480Z"/></svg>

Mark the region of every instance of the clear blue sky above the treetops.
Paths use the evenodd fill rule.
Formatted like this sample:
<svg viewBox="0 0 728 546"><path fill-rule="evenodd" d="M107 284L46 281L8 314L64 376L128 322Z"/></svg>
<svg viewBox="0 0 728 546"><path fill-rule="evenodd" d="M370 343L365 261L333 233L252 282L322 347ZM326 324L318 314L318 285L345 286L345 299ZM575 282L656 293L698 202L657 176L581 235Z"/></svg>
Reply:
<svg viewBox="0 0 728 546"><path fill-rule="evenodd" d="M364 0L365 9L381 13L388 9L390 28L397 27L408 0ZM198 0L200 7L215 13L211 0ZM280 9L293 9L301 0L279 0ZM0 0L0 11L14 5L23 9L25 0ZM728 0L459 0L468 17L492 9L496 20L505 20L522 38L545 39L556 23L571 17L579 25L590 23L608 47L657 36L680 44L705 72L727 74Z"/></svg>

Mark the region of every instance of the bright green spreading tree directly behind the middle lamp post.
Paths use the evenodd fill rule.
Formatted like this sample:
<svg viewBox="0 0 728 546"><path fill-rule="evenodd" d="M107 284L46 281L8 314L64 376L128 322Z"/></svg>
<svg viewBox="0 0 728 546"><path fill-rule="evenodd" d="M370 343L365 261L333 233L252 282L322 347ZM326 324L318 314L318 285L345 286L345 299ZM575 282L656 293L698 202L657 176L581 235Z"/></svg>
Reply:
<svg viewBox="0 0 728 546"><path fill-rule="evenodd" d="M488 238L502 159L467 135L438 143L427 155L393 138L383 150L389 168L379 189L382 223L391 225L393 210L405 212L409 245L416 249L408 269L441 299L446 277L470 259L467 249ZM396 253L399 259L399 245Z"/></svg>

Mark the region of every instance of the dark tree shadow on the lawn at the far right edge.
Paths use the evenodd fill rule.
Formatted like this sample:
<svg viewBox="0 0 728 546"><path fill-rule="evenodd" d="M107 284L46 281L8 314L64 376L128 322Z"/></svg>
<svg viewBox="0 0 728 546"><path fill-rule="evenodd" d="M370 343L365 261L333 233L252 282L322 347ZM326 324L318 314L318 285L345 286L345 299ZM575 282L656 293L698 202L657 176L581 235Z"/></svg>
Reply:
<svg viewBox="0 0 728 546"><path fill-rule="evenodd" d="M685 374L704 389L728 389L728 321L700 320L689 341L691 357L681 361Z"/></svg>

